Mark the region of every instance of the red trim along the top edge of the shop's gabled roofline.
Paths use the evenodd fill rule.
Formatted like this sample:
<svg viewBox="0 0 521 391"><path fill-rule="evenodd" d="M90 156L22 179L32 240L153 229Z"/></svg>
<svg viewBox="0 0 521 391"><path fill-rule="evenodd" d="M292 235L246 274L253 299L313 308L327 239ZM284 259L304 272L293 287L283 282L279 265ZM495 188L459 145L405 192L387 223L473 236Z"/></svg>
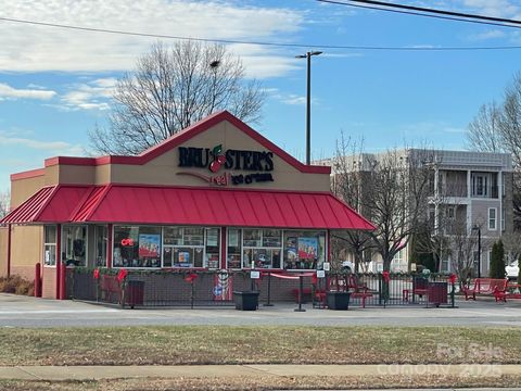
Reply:
<svg viewBox="0 0 521 391"><path fill-rule="evenodd" d="M182 144L183 142L190 140L191 138L198 136L199 134L209 129L211 127L227 121L233 126L236 126L239 130L243 131L252 139L257 141L259 144L265 147L266 149L274 152L280 159L298 169L301 173L308 173L308 174L331 174L330 166L317 166L317 165L305 165L298 162L295 157L277 147L275 143L269 141L267 138L255 131L253 128L247 126L245 123L240 121L239 118L234 117L227 111L223 111L220 113L215 113L206 118L193 124L192 126L170 136L163 142L149 148L148 150L143 151L138 156L118 156L118 155L110 155L110 156L100 156L100 157L68 157L68 156L55 156L46 160L46 167L58 165L58 164L66 164L66 165L103 165L103 164L128 164L128 165L143 165L153 159L164 154L165 152Z"/></svg>

